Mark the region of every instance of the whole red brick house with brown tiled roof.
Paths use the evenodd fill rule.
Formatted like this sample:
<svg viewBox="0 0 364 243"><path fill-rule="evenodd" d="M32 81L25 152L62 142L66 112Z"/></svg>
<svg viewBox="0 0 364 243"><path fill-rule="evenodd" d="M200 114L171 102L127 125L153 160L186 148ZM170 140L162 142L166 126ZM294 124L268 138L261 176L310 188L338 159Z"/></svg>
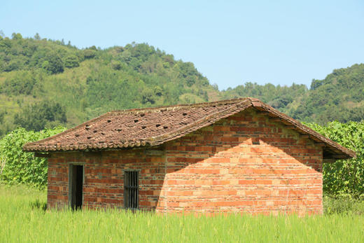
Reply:
<svg viewBox="0 0 364 243"><path fill-rule="evenodd" d="M112 111L26 144L48 207L322 214L323 162L355 153L258 99Z"/></svg>

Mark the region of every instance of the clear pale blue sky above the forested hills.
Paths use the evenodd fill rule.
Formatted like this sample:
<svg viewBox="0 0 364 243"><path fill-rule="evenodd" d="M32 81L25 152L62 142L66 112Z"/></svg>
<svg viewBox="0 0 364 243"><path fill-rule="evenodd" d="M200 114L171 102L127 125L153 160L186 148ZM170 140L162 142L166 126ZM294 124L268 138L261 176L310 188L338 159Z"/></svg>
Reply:
<svg viewBox="0 0 364 243"><path fill-rule="evenodd" d="M364 1L2 0L6 36L87 46L148 43L193 62L220 89L310 85L364 62Z"/></svg>

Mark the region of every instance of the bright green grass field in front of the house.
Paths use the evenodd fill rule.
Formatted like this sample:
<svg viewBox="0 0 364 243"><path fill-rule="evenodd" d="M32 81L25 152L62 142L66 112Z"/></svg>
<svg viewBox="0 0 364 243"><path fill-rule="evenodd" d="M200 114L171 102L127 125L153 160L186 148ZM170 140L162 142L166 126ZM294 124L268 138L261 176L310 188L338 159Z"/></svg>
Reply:
<svg viewBox="0 0 364 243"><path fill-rule="evenodd" d="M0 185L0 242L363 242L364 215L161 216L44 211L45 191ZM328 207L328 206L327 206ZM330 202L330 207L336 207ZM361 207L361 206L360 206ZM358 210L360 210L360 207ZM334 209L330 209L331 211Z"/></svg>

